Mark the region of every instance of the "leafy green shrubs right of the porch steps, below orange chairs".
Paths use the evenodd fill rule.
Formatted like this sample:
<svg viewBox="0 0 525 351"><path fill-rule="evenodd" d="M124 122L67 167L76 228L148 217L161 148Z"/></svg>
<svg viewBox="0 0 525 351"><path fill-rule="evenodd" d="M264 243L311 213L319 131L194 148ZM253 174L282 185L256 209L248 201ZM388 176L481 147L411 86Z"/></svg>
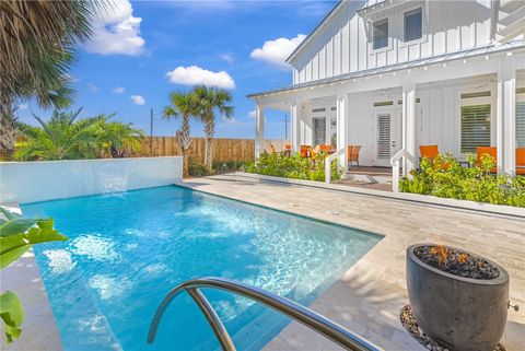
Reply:
<svg viewBox="0 0 525 351"><path fill-rule="evenodd" d="M490 155L468 155L470 167L462 167L452 154L438 155L433 161L423 159L420 169L411 178L402 178L404 192L432 195L494 204L525 207L525 177L491 174L495 160Z"/></svg>

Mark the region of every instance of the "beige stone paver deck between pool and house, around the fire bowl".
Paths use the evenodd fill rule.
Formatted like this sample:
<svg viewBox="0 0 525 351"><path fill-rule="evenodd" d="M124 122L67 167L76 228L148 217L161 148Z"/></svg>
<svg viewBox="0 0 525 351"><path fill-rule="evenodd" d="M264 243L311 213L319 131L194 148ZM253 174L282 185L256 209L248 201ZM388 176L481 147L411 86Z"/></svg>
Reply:
<svg viewBox="0 0 525 351"><path fill-rule="evenodd" d="M521 307L520 312L509 309L502 343L509 351L525 350L525 219L240 175L192 178L179 185L384 235L310 307L385 350L425 350L399 321L399 311L408 304L405 254L409 245L440 243L483 255L509 271L510 300ZM292 323L265 350L331 351L341 348Z"/></svg>

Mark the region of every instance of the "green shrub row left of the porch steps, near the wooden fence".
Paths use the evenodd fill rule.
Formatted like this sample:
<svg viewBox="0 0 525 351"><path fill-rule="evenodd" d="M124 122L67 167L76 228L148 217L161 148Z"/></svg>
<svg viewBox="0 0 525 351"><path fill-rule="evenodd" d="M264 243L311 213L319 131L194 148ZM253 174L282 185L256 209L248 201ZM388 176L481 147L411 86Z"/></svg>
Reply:
<svg viewBox="0 0 525 351"><path fill-rule="evenodd" d="M325 153L318 153L313 159L301 155L288 156L282 153L264 153L255 162L247 163L244 171L278 177L306 180L325 180ZM337 161L331 163L331 179L341 178L341 171Z"/></svg>

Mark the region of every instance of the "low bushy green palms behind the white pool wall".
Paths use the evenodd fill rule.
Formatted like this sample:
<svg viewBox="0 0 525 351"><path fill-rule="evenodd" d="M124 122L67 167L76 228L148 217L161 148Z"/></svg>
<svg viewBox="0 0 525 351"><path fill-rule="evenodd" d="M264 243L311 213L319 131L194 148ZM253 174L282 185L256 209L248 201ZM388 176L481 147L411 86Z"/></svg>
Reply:
<svg viewBox="0 0 525 351"><path fill-rule="evenodd" d="M77 120L81 110L55 110L48 121L34 115L39 127L21 124L26 141L16 149L14 157L21 161L94 159L105 151L121 157L126 155L125 147L140 147L142 131L131 125L108 122L114 115Z"/></svg>

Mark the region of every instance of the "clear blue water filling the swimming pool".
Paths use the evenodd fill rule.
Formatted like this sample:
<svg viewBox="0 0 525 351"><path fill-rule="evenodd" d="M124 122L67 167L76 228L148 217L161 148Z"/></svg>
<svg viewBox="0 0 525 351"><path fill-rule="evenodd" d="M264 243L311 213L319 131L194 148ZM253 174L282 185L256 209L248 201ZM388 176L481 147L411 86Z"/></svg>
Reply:
<svg viewBox="0 0 525 351"><path fill-rule="evenodd" d="M69 241L35 247L66 351L217 350L192 300L177 297L155 343L164 295L196 277L241 280L312 303L381 236L170 186L23 204ZM289 320L246 299L203 290L237 346L259 350Z"/></svg>

